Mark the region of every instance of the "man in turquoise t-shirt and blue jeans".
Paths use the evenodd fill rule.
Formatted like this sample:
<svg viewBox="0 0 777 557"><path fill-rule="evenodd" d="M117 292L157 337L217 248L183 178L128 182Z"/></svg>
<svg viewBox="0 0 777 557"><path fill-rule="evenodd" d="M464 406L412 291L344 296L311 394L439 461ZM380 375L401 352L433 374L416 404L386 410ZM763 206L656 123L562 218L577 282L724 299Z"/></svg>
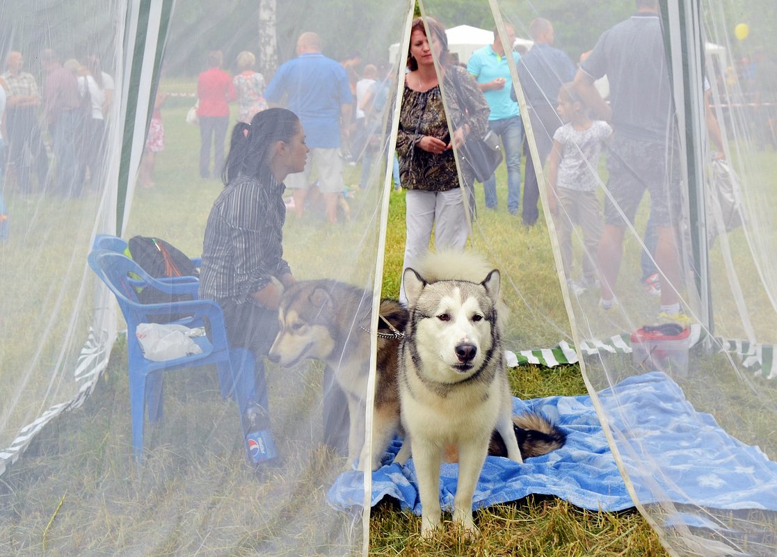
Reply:
<svg viewBox="0 0 777 557"><path fill-rule="evenodd" d="M511 48L515 42L513 26L505 25L507 45ZM512 52L515 64L520 56ZM504 54L502 40L496 29L493 30L493 44L472 53L467 71L475 76L478 86L491 108L488 124L493 133L502 138L504 161L507 164L507 211L517 214L521 197L521 135L523 126L518 113L518 103L510 98L513 79L510 66ZM483 183L486 194L486 208L497 208L497 179L493 174Z"/></svg>

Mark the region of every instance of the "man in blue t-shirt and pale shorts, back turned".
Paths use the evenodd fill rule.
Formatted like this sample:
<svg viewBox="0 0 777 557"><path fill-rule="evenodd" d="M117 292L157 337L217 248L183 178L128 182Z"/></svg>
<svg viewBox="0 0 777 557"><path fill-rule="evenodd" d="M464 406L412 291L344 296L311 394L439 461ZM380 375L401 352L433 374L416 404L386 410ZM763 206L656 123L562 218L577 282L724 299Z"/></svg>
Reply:
<svg viewBox="0 0 777 557"><path fill-rule="evenodd" d="M301 217L305 209L309 177L315 165L326 218L333 223L337 222L338 196L345 189L340 138L348 134L353 96L346 71L337 61L321 54L321 39L316 33L308 31L299 36L297 54L278 68L264 98L271 106L281 106L285 98L285 107L299 117L310 148L305 172L290 174L285 180L293 190L297 216Z"/></svg>

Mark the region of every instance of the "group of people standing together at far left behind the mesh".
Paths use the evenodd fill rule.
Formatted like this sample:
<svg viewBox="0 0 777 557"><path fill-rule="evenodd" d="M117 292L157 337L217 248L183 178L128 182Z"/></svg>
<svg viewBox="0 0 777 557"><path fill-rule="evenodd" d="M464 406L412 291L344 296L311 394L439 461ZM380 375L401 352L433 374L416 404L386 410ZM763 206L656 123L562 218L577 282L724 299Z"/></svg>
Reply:
<svg viewBox="0 0 777 557"><path fill-rule="evenodd" d="M47 48L38 59L44 72L41 87L24 71L21 52L11 50L5 56L0 78L6 98L6 183L22 195L78 197L85 187L99 188L113 78L96 54L63 63ZM53 157L44 141L46 132Z"/></svg>

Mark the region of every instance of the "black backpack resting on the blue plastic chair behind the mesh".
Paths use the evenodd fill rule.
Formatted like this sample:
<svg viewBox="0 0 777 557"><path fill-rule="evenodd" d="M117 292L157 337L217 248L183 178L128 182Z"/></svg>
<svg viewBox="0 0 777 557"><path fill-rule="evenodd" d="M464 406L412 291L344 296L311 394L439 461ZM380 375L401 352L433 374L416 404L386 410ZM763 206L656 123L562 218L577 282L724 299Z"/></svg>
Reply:
<svg viewBox="0 0 777 557"><path fill-rule="evenodd" d="M161 238L133 236L127 242L125 254L154 278L200 276L197 267L185 253ZM192 299L191 294L166 294L155 288L142 288L138 291L138 300L141 304L169 304L174 301ZM152 322L166 323L183 319L186 316L170 313L153 315Z"/></svg>

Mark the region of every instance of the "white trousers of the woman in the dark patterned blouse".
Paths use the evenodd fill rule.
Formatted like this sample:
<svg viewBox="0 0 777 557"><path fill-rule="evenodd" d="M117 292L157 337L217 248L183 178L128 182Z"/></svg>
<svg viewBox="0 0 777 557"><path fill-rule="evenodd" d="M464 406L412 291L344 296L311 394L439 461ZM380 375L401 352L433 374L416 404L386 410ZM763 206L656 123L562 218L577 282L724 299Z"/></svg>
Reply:
<svg viewBox="0 0 777 557"><path fill-rule="evenodd" d="M405 196L405 259L402 273L416 266L429 249L434 228L434 248L464 249L469 236L469 222L464 211L462 189L434 192L407 190ZM399 301L407 305L405 284L399 286Z"/></svg>

